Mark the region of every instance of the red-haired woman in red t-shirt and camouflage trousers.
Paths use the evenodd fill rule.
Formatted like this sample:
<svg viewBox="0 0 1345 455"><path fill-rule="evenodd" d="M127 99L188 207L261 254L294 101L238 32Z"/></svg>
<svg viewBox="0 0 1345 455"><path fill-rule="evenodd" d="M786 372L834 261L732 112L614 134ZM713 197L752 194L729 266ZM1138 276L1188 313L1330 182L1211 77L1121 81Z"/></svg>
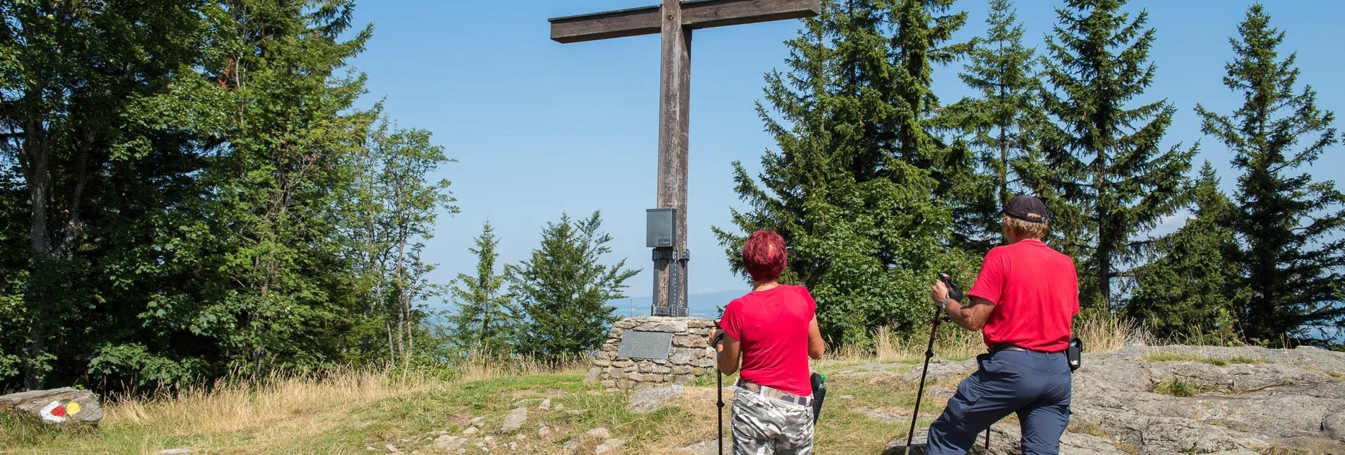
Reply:
<svg viewBox="0 0 1345 455"><path fill-rule="evenodd" d="M811 454L808 357L822 358L816 302L802 285L780 284L784 238L759 230L742 245L752 292L724 308L720 372L740 372L733 394L734 454Z"/></svg>

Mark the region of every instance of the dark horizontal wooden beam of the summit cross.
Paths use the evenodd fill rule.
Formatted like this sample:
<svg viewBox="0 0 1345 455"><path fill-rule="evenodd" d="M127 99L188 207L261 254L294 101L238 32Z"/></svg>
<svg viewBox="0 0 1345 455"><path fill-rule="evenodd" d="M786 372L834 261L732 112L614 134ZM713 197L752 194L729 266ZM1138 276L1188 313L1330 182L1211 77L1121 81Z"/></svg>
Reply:
<svg viewBox="0 0 1345 455"><path fill-rule="evenodd" d="M682 3L682 27L709 28L815 16L819 0L697 0ZM659 5L550 19L551 39L578 43L662 31Z"/></svg>

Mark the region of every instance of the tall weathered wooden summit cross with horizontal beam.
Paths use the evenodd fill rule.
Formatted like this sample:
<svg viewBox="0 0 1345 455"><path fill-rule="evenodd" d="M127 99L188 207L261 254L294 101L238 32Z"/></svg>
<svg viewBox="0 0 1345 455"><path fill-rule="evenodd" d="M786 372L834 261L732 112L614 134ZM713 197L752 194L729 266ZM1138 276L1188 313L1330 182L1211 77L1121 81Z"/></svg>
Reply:
<svg viewBox="0 0 1345 455"><path fill-rule="evenodd" d="M663 0L660 5L551 19L560 43L662 34L659 209L674 209L674 245L654 249L655 316L686 316L686 166L691 30L815 16L819 0Z"/></svg>

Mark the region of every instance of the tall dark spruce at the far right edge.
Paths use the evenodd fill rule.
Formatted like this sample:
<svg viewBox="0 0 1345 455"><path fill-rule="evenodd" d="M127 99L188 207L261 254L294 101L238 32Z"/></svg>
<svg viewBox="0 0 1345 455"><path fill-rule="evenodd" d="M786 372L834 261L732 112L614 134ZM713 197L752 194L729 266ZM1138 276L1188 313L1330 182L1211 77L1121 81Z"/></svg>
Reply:
<svg viewBox="0 0 1345 455"><path fill-rule="evenodd" d="M1243 334L1278 342L1345 318L1345 194L1306 172L1338 136L1334 114L1317 108L1313 88L1295 88L1297 54L1279 57L1284 32L1271 28L1260 4L1248 8L1237 31L1224 85L1243 94L1241 108L1227 116L1198 105L1196 112L1202 131L1228 147L1243 171L1233 198L1233 229L1245 244L1239 262L1251 287L1239 311Z"/></svg>

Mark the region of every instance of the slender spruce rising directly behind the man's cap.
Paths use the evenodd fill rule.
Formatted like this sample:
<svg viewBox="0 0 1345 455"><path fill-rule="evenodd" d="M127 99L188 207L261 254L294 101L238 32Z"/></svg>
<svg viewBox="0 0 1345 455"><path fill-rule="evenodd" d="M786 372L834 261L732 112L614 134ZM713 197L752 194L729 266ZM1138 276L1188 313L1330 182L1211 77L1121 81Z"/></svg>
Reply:
<svg viewBox="0 0 1345 455"><path fill-rule="evenodd" d="M999 209L1022 188L1015 168L1034 151L1034 131L1045 121L1033 69L1036 51L1022 43L1024 27L1013 4L990 0L986 24L990 30L971 43L970 61L959 74L979 96L940 114L942 124L971 136L970 148L976 153L966 202L955 211L954 242L981 254L1001 241Z"/></svg>

